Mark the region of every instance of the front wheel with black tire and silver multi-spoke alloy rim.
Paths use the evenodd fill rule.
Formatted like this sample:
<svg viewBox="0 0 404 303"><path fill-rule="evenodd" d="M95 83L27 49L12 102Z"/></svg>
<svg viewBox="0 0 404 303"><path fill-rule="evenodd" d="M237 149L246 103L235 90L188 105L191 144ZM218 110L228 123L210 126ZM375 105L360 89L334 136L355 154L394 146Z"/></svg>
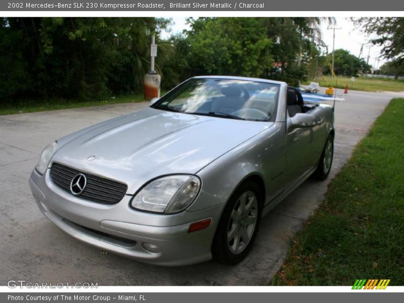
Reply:
<svg viewBox="0 0 404 303"><path fill-rule="evenodd" d="M215 260L235 265L247 256L257 236L261 212L260 187L252 181L242 183L229 199L216 230L212 245Z"/></svg>

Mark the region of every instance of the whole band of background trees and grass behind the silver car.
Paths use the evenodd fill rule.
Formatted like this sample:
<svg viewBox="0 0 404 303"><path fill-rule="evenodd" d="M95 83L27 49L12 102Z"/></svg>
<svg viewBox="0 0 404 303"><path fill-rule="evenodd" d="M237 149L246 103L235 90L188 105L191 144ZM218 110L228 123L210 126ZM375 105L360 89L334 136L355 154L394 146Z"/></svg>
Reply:
<svg viewBox="0 0 404 303"><path fill-rule="evenodd" d="M354 18L375 34L389 60L378 74L404 74L404 18ZM156 35L156 71L162 89L195 75L236 75L287 82L325 79L335 85L332 55L321 25L331 17L188 18L188 29L170 32L170 18L0 18L0 112L18 113L127 102L141 94ZM334 51L338 87L370 72L363 58ZM346 77L346 79L344 78ZM327 80L329 79L329 80ZM364 81L364 82L362 82ZM366 83L365 83L366 82ZM401 91L403 82L358 79L350 89ZM125 101L126 100L126 101Z"/></svg>

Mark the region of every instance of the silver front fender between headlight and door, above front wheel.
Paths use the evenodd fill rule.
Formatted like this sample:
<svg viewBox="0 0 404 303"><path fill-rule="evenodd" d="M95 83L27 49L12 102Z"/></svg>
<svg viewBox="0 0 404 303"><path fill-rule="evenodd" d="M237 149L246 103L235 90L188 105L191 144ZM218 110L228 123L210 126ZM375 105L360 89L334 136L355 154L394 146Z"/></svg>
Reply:
<svg viewBox="0 0 404 303"><path fill-rule="evenodd" d="M257 175L264 181L266 199L282 190L285 170L285 123L276 122L266 131L230 150L197 175L203 180L198 199L187 211L225 203L237 186L248 176Z"/></svg>

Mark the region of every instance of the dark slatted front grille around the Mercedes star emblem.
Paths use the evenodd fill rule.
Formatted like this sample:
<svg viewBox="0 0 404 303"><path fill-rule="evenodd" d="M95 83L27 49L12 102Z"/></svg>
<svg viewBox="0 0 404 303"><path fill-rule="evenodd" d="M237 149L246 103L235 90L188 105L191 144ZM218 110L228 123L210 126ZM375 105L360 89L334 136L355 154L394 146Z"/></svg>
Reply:
<svg viewBox="0 0 404 303"><path fill-rule="evenodd" d="M82 172L73 168L54 163L51 168L52 181L63 190L71 193L70 183L73 178ZM82 173L87 178L87 184L84 190L78 194L78 197L94 202L114 204L119 202L125 195L128 186L116 181L108 180Z"/></svg>

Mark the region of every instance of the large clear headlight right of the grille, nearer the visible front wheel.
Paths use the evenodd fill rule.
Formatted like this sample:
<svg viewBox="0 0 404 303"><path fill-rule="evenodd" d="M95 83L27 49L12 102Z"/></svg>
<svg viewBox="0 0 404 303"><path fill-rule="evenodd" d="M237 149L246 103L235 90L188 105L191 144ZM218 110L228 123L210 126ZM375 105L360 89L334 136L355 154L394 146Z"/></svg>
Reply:
<svg viewBox="0 0 404 303"><path fill-rule="evenodd" d="M173 175L154 180L143 187L132 199L138 210L158 213L178 213L186 209L200 189L198 177Z"/></svg>

